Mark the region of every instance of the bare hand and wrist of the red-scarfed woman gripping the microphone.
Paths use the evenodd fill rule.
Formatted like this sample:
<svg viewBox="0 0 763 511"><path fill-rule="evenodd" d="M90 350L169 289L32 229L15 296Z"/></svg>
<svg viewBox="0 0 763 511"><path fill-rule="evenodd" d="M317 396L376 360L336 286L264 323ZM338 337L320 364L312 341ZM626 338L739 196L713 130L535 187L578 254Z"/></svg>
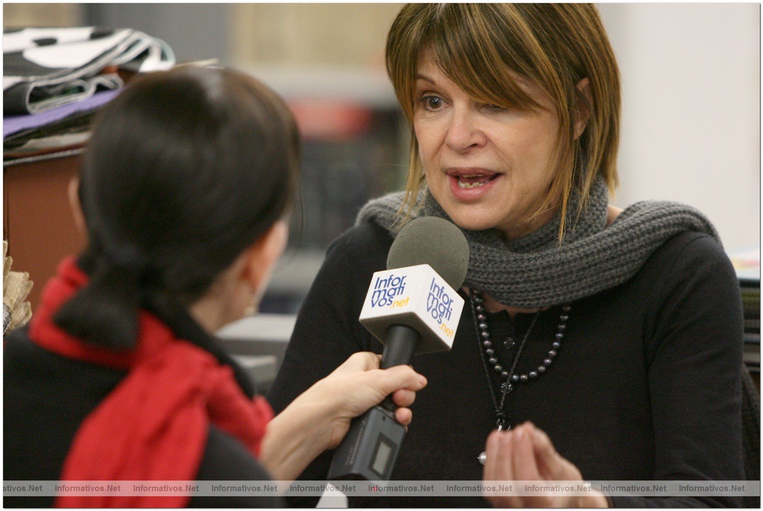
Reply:
<svg viewBox="0 0 763 511"><path fill-rule="evenodd" d="M380 355L359 352L305 390L268 424L259 460L275 480L293 480L313 459L340 444L350 420L389 394L395 419L410 424L416 391L427 378L410 366L379 369Z"/></svg>

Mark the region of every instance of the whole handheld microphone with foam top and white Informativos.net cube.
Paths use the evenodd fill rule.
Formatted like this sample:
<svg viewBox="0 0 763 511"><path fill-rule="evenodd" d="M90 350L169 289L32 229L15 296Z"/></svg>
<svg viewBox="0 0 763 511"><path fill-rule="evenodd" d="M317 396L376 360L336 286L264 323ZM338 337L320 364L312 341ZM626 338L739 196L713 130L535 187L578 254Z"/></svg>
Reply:
<svg viewBox="0 0 763 511"><path fill-rule="evenodd" d="M447 351L459 326L469 249L461 230L439 217L403 227L389 249L387 269L375 272L360 323L382 344L381 368L419 353ZM394 419L391 397L353 419L336 452L329 480L389 480L405 428Z"/></svg>

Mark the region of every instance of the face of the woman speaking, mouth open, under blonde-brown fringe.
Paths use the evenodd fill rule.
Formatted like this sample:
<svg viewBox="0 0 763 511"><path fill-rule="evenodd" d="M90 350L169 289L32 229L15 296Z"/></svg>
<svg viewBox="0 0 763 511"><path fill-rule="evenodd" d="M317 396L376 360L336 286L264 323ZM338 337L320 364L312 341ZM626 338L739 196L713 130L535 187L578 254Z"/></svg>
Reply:
<svg viewBox="0 0 763 511"><path fill-rule="evenodd" d="M531 206L546 194L559 120L550 98L515 76L518 85L544 107L518 111L483 104L449 80L425 52L419 59L414 130L427 185L459 227L497 228L507 238L530 233Z"/></svg>

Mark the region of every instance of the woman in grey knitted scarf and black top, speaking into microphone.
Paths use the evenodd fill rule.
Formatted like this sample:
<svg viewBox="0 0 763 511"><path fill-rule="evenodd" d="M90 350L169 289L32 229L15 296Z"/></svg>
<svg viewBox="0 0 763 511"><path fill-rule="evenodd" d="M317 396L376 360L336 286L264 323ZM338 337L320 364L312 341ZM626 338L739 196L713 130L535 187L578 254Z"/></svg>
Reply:
<svg viewBox="0 0 763 511"><path fill-rule="evenodd" d="M429 391L417 398L394 479L742 479L736 275L693 208L608 204L620 84L596 9L406 5L389 32L387 65L412 128L407 189L367 204L329 249L269 394L275 409L350 353L381 349L357 322L368 282L401 224L433 215L468 239L468 304L452 350L412 362ZM322 291L329 281L331 296ZM322 369L317 350L333 354ZM301 478L325 477L327 458Z"/></svg>

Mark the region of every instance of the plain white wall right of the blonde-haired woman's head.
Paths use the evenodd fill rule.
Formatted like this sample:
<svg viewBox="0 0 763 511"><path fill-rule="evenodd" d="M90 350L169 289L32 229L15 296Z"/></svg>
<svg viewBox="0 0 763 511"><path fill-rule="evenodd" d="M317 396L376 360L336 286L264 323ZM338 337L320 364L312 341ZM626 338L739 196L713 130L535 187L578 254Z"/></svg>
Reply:
<svg viewBox="0 0 763 511"><path fill-rule="evenodd" d="M760 243L760 5L600 4L623 80L620 207L691 204Z"/></svg>

